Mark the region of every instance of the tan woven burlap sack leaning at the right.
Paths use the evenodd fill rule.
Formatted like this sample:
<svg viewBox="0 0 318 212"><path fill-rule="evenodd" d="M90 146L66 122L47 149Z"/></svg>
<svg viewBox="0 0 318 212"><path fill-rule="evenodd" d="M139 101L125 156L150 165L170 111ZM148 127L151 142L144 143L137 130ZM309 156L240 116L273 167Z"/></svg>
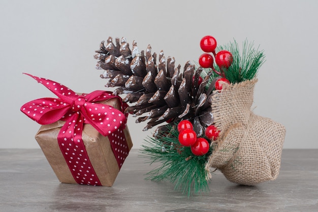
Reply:
<svg viewBox="0 0 318 212"><path fill-rule="evenodd" d="M215 91L212 112L219 138L207 168L219 169L226 178L241 185L275 180L280 168L285 128L251 112L257 79L224 85Z"/></svg>

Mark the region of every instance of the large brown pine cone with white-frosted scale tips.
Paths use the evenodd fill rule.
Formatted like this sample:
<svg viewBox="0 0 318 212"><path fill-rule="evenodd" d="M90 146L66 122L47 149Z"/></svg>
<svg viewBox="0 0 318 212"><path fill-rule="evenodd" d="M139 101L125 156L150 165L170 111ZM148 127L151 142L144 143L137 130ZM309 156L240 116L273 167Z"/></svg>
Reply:
<svg viewBox="0 0 318 212"><path fill-rule="evenodd" d="M195 65L187 61L181 73L180 64L175 67L174 57L164 56L161 51L156 64L156 53L151 55L148 45L146 54L139 52L137 43L133 42L132 50L125 38L109 37L106 46L104 41L94 55L99 59L96 68L104 69L101 78L108 79L106 87L118 87L114 94L126 94L125 102L136 102L126 111L139 117L136 123L149 120L144 131L164 122L178 123L183 119L192 121L197 136L211 125L211 97L214 83L207 89L209 76L199 85L202 68L195 70ZM167 124L157 127L154 136L166 131Z"/></svg>

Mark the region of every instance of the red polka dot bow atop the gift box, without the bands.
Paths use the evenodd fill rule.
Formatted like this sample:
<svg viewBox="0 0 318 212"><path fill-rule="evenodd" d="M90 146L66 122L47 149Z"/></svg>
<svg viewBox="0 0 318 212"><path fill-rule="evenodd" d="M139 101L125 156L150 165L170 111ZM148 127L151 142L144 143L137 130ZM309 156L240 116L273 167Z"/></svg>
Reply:
<svg viewBox="0 0 318 212"><path fill-rule="evenodd" d="M121 111L97 101L118 98L121 106L124 103L119 96L107 91L93 91L89 94L78 95L66 86L54 81L26 74L43 84L59 98L42 98L25 103L21 111L39 124L51 124L58 120L66 121L74 113L81 113L85 123L91 124L102 135L107 136L115 129L124 125L126 116ZM42 110L34 107L41 106ZM122 108L124 110L124 108Z"/></svg>

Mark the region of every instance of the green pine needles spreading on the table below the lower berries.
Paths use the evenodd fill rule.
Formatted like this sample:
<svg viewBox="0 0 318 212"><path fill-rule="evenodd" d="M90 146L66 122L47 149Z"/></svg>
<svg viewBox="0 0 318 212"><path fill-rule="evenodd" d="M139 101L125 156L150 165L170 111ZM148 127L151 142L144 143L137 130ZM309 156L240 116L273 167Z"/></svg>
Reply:
<svg viewBox="0 0 318 212"><path fill-rule="evenodd" d="M212 148L203 156L195 156L190 147L180 145L178 131L174 128L169 135L158 138L148 137L146 145L142 145L142 157L147 162L158 163L158 166L147 173L147 180L168 180L175 184L175 190L182 191L188 196L209 191L208 171L205 163L211 154Z"/></svg>

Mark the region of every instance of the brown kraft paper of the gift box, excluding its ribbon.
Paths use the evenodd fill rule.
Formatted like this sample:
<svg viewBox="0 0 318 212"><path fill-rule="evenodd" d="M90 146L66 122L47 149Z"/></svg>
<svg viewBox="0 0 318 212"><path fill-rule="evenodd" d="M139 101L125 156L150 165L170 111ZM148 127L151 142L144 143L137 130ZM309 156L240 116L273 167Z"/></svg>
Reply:
<svg viewBox="0 0 318 212"><path fill-rule="evenodd" d="M117 98L108 99L103 101L103 103L111 105L115 109L120 109L120 102ZM36 140L58 180L61 183L76 184L57 142L58 132L64 123L63 121L57 121L52 124L42 125L36 134ZM127 126L124 129L124 135L128 148L131 150L133 143ZM112 186L119 172L119 167L108 137L100 134L90 124L84 124L82 139L89 160L101 184L103 186Z"/></svg>

